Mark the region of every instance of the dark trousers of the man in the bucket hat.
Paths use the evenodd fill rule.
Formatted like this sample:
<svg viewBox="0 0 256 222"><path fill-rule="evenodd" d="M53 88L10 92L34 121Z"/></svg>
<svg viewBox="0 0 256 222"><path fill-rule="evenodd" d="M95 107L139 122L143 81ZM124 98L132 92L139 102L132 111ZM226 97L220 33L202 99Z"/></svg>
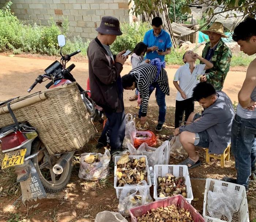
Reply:
<svg viewBox="0 0 256 222"><path fill-rule="evenodd" d="M106 145L109 142L110 152L120 150L125 136L125 115L123 112L105 112L108 121L98 142Z"/></svg>

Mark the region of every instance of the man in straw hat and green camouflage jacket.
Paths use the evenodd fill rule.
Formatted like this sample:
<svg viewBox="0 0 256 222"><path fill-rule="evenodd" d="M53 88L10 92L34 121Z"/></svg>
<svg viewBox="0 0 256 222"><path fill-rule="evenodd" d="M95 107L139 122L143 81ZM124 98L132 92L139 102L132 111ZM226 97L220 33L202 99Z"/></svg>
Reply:
<svg viewBox="0 0 256 222"><path fill-rule="evenodd" d="M213 68L208 69L203 81L211 83L216 90L222 90L224 81L229 72L232 53L221 38L227 38L223 32L223 25L214 22L210 28L202 31L209 36L202 57L212 62Z"/></svg>

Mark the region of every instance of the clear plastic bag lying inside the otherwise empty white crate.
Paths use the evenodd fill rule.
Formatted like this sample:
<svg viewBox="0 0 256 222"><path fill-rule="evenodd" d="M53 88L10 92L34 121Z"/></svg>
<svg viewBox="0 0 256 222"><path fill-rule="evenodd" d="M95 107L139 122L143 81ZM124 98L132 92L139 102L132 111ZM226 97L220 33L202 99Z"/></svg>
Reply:
<svg viewBox="0 0 256 222"><path fill-rule="evenodd" d="M239 210L242 196L238 191L224 186L214 186L214 192L208 191L207 211L210 217L221 219L225 216L230 222L234 212Z"/></svg>

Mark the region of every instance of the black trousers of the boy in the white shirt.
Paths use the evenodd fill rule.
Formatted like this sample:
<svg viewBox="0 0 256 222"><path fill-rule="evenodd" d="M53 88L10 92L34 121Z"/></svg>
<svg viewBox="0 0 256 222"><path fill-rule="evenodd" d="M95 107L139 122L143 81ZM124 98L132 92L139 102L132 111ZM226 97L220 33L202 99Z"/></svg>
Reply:
<svg viewBox="0 0 256 222"><path fill-rule="evenodd" d="M182 100L182 101L176 100L175 129L180 126L184 112L185 112L185 121L188 120L188 116L191 114L191 112L194 111L194 105L195 105L195 102L193 97Z"/></svg>

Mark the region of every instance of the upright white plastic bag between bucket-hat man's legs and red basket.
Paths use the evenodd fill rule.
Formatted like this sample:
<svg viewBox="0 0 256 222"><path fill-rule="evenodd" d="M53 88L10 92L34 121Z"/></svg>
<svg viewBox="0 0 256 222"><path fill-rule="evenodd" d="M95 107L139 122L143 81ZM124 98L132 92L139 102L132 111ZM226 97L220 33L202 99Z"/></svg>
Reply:
<svg viewBox="0 0 256 222"><path fill-rule="evenodd" d="M132 114L127 114L125 116L125 137L123 141L123 148L128 148L128 143L134 144L136 137L136 126L135 122L132 119Z"/></svg>

